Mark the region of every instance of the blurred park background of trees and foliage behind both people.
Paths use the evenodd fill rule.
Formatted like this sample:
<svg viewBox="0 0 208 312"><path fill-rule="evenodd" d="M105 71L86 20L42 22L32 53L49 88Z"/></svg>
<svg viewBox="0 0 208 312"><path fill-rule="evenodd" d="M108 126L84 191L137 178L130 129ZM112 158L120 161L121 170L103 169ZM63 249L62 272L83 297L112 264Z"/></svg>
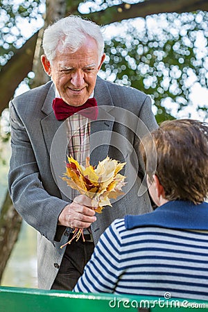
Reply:
<svg viewBox="0 0 208 312"><path fill-rule="evenodd" d="M7 173L11 98L49 80L40 64L42 33L69 14L102 26L99 76L149 94L157 122L208 121L207 0L0 1L0 281L37 287L35 229L12 207Z"/></svg>

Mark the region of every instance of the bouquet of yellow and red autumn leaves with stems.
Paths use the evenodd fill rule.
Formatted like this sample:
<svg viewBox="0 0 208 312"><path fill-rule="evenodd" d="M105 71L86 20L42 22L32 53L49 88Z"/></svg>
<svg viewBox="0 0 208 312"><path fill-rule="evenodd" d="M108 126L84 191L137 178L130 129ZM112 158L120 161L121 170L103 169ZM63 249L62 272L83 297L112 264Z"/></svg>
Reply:
<svg viewBox="0 0 208 312"><path fill-rule="evenodd" d="M121 175L119 171L121 171L124 165L125 163L121 164L115 159L106 157L95 168L89 164L89 157L87 157L86 165L82 166L70 156L68 157L66 173L64 173L62 180L66 181L67 185L72 189L78 190L80 194L91 198L92 209L101 213L104 206L112 206L110 198L116 199L123 194L121 189L125 185L125 176ZM83 229L74 229L73 237L68 243L71 243L75 238L78 241L80 236L85 241ZM62 245L61 248L68 243Z"/></svg>

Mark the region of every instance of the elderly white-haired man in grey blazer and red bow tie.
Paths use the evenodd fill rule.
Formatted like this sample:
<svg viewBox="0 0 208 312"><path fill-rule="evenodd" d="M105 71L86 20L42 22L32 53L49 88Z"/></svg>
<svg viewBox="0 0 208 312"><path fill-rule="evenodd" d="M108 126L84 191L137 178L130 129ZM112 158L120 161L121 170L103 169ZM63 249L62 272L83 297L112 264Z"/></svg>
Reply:
<svg viewBox="0 0 208 312"><path fill-rule="evenodd" d="M138 206L139 214L151 211L135 150L157 123L146 94L97 76L105 53L96 24L72 15L60 19L46 28L43 47L42 64L51 81L10 102L8 181L15 208L38 231L38 286L70 290L115 218L138 214ZM60 179L66 154L82 164L87 156L96 165L107 155L126 162L125 196L96 215L91 200L65 189ZM75 227L85 229L85 242L61 249Z"/></svg>

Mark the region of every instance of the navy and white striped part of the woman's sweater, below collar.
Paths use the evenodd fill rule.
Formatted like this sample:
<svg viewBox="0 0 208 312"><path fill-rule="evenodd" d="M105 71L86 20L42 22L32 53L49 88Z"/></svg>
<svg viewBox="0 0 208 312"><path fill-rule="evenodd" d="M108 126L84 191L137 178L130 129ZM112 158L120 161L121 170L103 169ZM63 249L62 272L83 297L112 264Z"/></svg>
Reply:
<svg viewBox="0 0 208 312"><path fill-rule="evenodd" d="M103 233L74 291L157 297L171 293L172 297L208 300L205 229L200 229L200 225L195 226L199 229L127 227L126 218L117 219Z"/></svg>

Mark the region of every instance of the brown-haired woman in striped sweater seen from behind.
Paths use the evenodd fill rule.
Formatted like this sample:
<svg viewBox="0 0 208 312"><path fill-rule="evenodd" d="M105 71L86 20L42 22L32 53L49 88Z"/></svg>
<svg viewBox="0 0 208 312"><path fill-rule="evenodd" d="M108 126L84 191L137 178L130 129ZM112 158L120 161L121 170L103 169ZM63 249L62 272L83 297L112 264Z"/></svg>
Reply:
<svg viewBox="0 0 208 312"><path fill-rule="evenodd" d="M151 135L141 150L159 207L115 220L74 291L208 300L208 126L165 121Z"/></svg>

